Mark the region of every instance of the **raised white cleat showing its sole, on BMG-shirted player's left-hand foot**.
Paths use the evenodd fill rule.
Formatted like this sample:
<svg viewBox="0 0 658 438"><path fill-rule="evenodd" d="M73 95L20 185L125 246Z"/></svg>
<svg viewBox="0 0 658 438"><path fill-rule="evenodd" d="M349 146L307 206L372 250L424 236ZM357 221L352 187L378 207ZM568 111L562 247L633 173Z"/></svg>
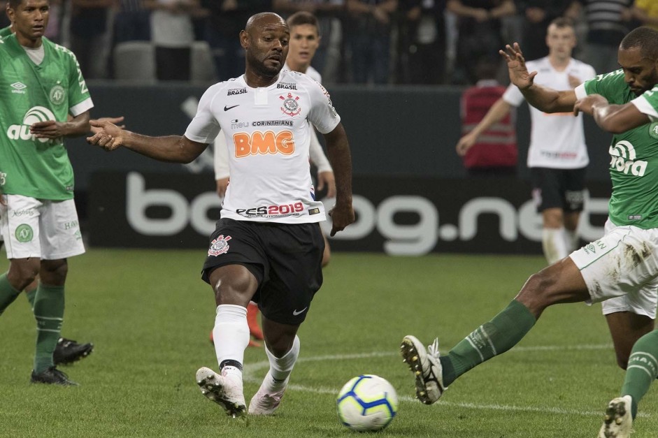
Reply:
<svg viewBox="0 0 658 438"><path fill-rule="evenodd" d="M196 371L196 384L201 394L219 404L233 418L243 416L246 411L242 381L237 376L222 376L207 367Z"/></svg>

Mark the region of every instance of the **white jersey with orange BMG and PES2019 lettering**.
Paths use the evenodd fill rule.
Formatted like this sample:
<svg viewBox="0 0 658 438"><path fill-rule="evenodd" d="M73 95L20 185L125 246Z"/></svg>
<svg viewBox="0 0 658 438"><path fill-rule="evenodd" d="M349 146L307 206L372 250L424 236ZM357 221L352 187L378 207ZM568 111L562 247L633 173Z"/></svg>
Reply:
<svg viewBox="0 0 658 438"><path fill-rule="evenodd" d="M222 129L231 183L222 218L284 224L319 222L324 207L310 179L308 121L329 133L341 121L329 93L308 76L281 71L269 87L252 88L244 76L208 88L185 137L213 143Z"/></svg>

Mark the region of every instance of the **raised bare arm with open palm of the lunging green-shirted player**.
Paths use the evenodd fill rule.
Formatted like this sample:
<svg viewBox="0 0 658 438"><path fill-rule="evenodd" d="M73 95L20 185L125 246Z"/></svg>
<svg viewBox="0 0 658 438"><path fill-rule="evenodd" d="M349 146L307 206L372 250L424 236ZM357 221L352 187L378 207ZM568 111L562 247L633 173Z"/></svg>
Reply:
<svg viewBox="0 0 658 438"><path fill-rule="evenodd" d="M506 45L499 53L507 62L510 81L519 87L528 103L543 112L571 112L575 104L573 90L557 91L534 83L536 71L529 72L519 43Z"/></svg>

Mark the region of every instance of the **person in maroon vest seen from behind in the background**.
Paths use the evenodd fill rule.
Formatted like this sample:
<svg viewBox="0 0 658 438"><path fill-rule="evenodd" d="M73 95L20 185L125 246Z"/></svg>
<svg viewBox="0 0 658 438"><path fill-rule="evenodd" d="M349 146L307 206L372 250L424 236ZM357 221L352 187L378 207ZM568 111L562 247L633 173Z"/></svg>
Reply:
<svg viewBox="0 0 658 438"><path fill-rule="evenodd" d="M498 65L498 59L492 56L480 58L475 68L479 80L462 94L462 138L457 152L471 176L516 174L516 108L499 103L507 88L496 81ZM473 131L494 105L505 106L500 120L484 132Z"/></svg>

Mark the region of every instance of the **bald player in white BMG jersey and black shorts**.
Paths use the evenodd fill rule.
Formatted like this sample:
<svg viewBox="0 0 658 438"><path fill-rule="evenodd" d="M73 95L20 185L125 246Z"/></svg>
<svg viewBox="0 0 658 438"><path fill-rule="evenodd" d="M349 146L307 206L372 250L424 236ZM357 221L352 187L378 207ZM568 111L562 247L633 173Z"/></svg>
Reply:
<svg viewBox="0 0 658 438"><path fill-rule="evenodd" d="M222 129L229 145L231 184L221 219L210 237L203 279L217 304L215 353L219 373L196 372L201 393L229 416L245 414L242 369L249 342L247 305L263 314L270 368L249 404L249 413L273 414L299 356L299 325L322 284L324 242L318 222L324 207L315 200L307 119L323 133L336 175L331 235L355 220L348 138L329 93L301 73L282 71L290 32L275 13L250 17L240 42L245 74L220 82L201 97L184 136L149 137L103 123L87 138L112 150L123 146L154 159L189 162Z"/></svg>

